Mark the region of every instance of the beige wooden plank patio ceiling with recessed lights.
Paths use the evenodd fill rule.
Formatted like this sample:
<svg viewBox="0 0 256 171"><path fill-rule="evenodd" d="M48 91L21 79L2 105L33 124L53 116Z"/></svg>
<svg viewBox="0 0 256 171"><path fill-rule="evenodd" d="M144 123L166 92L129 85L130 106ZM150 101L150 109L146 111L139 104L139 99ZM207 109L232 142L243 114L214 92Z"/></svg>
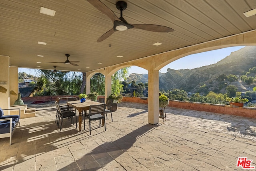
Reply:
<svg viewBox="0 0 256 171"><path fill-rule="evenodd" d="M117 0L100 1L120 17ZM0 55L10 56L11 66L88 72L256 29L256 16L243 14L256 8L256 0L125 1L123 17L128 23L175 31L129 29L97 43L113 23L87 0L1 0ZM55 16L41 14L41 6L55 10ZM156 42L162 45L152 45ZM80 61L79 66L61 63L65 54L70 54L70 61Z"/></svg>

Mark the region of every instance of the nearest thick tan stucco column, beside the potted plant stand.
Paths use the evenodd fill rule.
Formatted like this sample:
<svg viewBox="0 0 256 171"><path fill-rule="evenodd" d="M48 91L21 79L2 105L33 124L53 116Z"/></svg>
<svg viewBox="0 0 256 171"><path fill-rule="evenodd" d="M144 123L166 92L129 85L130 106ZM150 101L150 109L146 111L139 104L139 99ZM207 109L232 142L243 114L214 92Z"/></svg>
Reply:
<svg viewBox="0 0 256 171"><path fill-rule="evenodd" d="M159 71L148 70L148 123L159 121Z"/></svg>

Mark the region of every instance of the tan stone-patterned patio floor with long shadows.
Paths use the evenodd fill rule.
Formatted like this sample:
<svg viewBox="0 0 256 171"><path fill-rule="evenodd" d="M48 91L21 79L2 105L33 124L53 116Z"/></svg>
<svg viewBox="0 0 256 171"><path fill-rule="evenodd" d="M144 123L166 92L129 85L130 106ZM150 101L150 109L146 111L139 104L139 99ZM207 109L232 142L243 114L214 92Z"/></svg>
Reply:
<svg viewBox="0 0 256 171"><path fill-rule="evenodd" d="M30 105L28 105L30 106ZM36 117L21 119L12 145L0 139L1 171L234 171L238 157L256 166L256 119L166 108L167 120L148 124L148 105L118 103L92 135L64 119L55 124L52 103L32 105ZM248 169L256 170L256 169Z"/></svg>

